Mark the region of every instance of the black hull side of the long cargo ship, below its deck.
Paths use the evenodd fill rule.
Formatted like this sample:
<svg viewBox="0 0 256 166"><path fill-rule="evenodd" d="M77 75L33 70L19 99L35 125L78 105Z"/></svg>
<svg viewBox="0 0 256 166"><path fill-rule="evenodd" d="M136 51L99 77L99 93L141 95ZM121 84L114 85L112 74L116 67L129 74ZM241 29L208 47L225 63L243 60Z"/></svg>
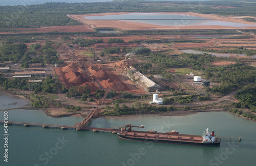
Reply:
<svg viewBox="0 0 256 166"><path fill-rule="evenodd" d="M160 139L149 139L145 137L130 137L122 134L118 134L120 139L131 140L131 141L139 141L139 142L154 142L154 143L167 143L167 144L179 144L179 145L194 145L194 146L220 146L220 142L214 143L202 143L202 142L191 142L191 141L178 141L178 140L160 140Z"/></svg>

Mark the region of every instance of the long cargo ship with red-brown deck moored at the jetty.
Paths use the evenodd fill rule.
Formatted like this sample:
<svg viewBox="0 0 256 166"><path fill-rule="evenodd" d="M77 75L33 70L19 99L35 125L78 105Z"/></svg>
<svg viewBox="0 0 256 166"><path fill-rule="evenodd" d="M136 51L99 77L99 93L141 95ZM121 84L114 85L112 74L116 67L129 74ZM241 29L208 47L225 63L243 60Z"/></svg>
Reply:
<svg viewBox="0 0 256 166"><path fill-rule="evenodd" d="M135 126L133 126L135 127ZM144 128L140 127L140 128ZM118 137L124 140L140 141L140 142L154 142L154 143L168 143L168 144L182 144L182 145L196 145L196 146L220 146L221 139L215 136L214 130L208 132L205 129L203 135L187 135L178 134L179 132L173 129L172 132L147 132L147 131L133 131L131 127L128 130L121 128L117 132Z"/></svg>

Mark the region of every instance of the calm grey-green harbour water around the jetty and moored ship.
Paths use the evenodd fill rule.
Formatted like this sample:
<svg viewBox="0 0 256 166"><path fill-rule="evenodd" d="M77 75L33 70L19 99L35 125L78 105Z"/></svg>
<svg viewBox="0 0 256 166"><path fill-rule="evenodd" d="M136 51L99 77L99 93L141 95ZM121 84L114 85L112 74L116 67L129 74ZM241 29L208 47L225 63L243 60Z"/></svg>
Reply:
<svg viewBox="0 0 256 166"><path fill-rule="evenodd" d="M27 104L28 101L0 92L1 108L17 107L22 103ZM3 115L4 112L0 112L1 120ZM8 117L9 121L68 125L82 119L51 118L39 109L8 110ZM8 126L9 160L4 163L2 157L1 165L254 165L256 161L256 123L233 114L209 112L173 117L102 117L94 119L91 126L113 127L128 123L145 125L143 130L166 132L174 127L180 133L198 135L209 127L219 136L242 136L242 141L222 139L220 147L197 147L126 141L112 133ZM4 127L0 126L3 133ZM0 140L3 147L4 141ZM3 154L3 148L1 151Z"/></svg>

